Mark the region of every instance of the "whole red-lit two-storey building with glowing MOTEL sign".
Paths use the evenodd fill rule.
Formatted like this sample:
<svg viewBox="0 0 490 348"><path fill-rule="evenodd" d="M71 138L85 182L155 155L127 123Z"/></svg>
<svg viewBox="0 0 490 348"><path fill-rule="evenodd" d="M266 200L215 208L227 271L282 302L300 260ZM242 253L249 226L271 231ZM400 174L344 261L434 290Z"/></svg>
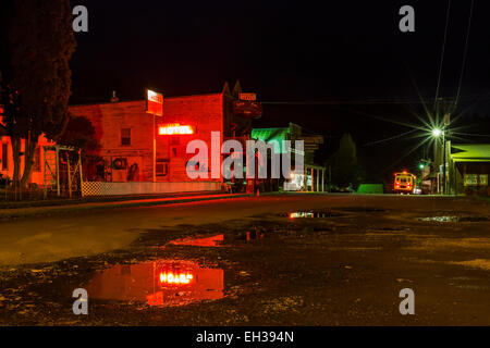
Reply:
<svg viewBox="0 0 490 348"><path fill-rule="evenodd" d="M186 173L187 162L194 157L186 153L191 140L204 140L210 150L211 132L220 133L220 147L230 138L249 138L252 117L236 108L240 92L238 84L233 92L225 84L217 94L164 98L163 116L156 117L155 128L157 182L196 182ZM72 115L85 116L93 123L100 144L100 149L90 153L91 160L84 165L85 181L152 182L154 116L145 110L144 100L70 107ZM175 134L179 129L189 134ZM199 167L199 163L196 170L210 171ZM198 181L222 182L210 175Z"/></svg>

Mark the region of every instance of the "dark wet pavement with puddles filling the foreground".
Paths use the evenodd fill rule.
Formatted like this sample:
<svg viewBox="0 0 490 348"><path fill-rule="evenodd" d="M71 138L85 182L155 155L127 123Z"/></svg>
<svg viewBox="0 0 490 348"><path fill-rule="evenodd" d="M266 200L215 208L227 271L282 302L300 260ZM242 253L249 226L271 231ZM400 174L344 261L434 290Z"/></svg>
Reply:
<svg viewBox="0 0 490 348"><path fill-rule="evenodd" d="M490 325L486 201L291 195L103 214L59 220L121 214L111 236L131 241L0 266L0 324ZM76 288L88 315L73 314ZM403 288L415 315L400 314Z"/></svg>

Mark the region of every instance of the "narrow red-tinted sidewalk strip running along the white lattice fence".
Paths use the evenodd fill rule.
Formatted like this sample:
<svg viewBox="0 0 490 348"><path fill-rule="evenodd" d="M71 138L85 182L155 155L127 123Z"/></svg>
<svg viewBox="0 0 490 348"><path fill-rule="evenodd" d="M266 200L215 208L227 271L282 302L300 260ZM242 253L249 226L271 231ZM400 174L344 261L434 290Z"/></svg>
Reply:
<svg viewBox="0 0 490 348"><path fill-rule="evenodd" d="M150 207L217 199L250 197L249 194L181 192L150 196L117 196L72 200L0 202L0 220L33 217L93 209ZM3 207L5 208L3 208Z"/></svg>

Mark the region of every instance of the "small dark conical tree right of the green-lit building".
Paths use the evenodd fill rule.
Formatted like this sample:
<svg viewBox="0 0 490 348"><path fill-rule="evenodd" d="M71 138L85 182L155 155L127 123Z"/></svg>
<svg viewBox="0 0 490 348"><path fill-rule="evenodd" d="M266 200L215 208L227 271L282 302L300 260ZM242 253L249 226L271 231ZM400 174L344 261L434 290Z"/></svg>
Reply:
<svg viewBox="0 0 490 348"><path fill-rule="evenodd" d="M339 150L327 161L327 166L332 171L332 182L347 186L357 186L362 179L362 169L357 160L357 149L350 134L344 134L340 140Z"/></svg>

